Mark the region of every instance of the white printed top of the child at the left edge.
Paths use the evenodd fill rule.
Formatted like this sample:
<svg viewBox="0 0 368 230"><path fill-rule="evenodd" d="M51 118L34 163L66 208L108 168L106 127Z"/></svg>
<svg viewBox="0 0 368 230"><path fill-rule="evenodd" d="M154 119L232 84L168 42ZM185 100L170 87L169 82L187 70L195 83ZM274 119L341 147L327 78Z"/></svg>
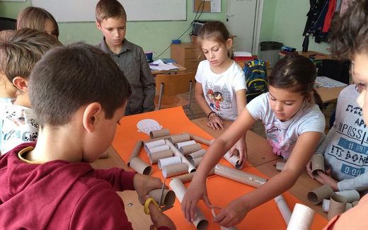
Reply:
<svg viewBox="0 0 368 230"><path fill-rule="evenodd" d="M38 120L31 108L8 103L1 130L0 150L6 154L18 144L34 142L38 137Z"/></svg>

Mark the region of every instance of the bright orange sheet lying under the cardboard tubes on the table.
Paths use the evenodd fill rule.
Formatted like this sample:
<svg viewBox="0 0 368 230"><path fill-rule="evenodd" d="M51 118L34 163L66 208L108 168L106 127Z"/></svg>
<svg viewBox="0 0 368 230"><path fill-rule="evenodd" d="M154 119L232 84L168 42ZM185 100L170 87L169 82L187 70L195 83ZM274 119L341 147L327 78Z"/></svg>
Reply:
<svg viewBox="0 0 368 230"><path fill-rule="evenodd" d="M206 139L212 139L212 137L205 131L201 130L200 127L194 125L188 117L185 115L183 108L168 108L165 110L158 110L150 113L142 113L139 115L130 115L123 117L120 121L121 125L117 125L117 130L115 134L115 139L113 141L113 147L117 153L122 157L122 159L127 163L130 158L130 154L134 149L134 146L139 140L149 139L149 136L144 132L139 132L137 128L137 122L143 119L153 119L159 122L163 128L170 130L171 134L180 134L182 132L188 132L190 134L195 134ZM248 143L251 144L251 143ZM207 146L203 145L205 149ZM149 163L146 151L142 148L139 153L139 158ZM222 159L220 163L230 166L227 161ZM161 171L157 165L153 166L153 173L151 176L163 178ZM258 176L267 176L260 173L256 168L248 166L243 168L243 171L248 173L253 173ZM167 181L167 180L166 180ZM168 185L168 183L166 183ZM188 184L186 185L188 186ZM243 185L233 180L222 178L221 176L210 176L207 180L207 192L209 199L213 205L219 207L225 207L227 203L234 200L236 197L246 194L254 190L255 188ZM284 198L292 210L295 203L301 203L296 197L291 195L289 192L285 192ZM208 229L219 229L218 224L212 223L212 214L210 209L205 206L204 202L200 201L198 207L207 217L209 221ZM181 205L176 200L174 207L168 209L165 212L168 217L170 217L176 224L178 229L195 229L195 226L188 223L181 212ZM328 223L327 219L321 217L318 214L314 216L314 223L311 229L322 229ZM236 226L238 229L286 229L286 224L276 203L273 200L266 202L263 205L251 210L246 215L246 218Z"/></svg>

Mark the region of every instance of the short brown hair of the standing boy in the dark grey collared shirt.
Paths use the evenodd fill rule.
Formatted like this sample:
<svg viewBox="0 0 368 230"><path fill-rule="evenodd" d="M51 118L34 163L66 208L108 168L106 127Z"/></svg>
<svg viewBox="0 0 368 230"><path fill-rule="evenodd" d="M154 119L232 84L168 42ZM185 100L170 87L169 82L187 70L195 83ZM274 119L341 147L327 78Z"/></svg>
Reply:
<svg viewBox="0 0 368 230"><path fill-rule="evenodd" d="M100 0L96 5L96 21L101 23L108 18L123 17L127 20L125 9L117 0Z"/></svg>

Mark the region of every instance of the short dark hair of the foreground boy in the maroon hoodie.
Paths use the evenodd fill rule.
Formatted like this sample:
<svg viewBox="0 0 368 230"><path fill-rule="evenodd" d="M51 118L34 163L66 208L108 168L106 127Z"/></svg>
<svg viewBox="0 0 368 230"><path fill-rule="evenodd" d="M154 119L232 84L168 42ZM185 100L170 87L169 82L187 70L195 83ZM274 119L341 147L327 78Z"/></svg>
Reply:
<svg viewBox="0 0 368 230"><path fill-rule="evenodd" d="M30 103L40 126L70 122L83 105L100 103L106 118L132 93L130 84L108 54L84 42L55 47L30 74Z"/></svg>

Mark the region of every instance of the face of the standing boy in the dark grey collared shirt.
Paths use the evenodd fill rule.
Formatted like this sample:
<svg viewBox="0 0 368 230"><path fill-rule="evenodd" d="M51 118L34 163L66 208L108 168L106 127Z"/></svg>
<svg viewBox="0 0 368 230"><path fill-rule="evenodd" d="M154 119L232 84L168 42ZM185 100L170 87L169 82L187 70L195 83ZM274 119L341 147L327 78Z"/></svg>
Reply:
<svg viewBox="0 0 368 230"><path fill-rule="evenodd" d="M96 22L98 30L101 30L103 36L105 36L108 47L120 47L122 45L125 38L126 22L124 17L108 18L101 21L101 23Z"/></svg>

